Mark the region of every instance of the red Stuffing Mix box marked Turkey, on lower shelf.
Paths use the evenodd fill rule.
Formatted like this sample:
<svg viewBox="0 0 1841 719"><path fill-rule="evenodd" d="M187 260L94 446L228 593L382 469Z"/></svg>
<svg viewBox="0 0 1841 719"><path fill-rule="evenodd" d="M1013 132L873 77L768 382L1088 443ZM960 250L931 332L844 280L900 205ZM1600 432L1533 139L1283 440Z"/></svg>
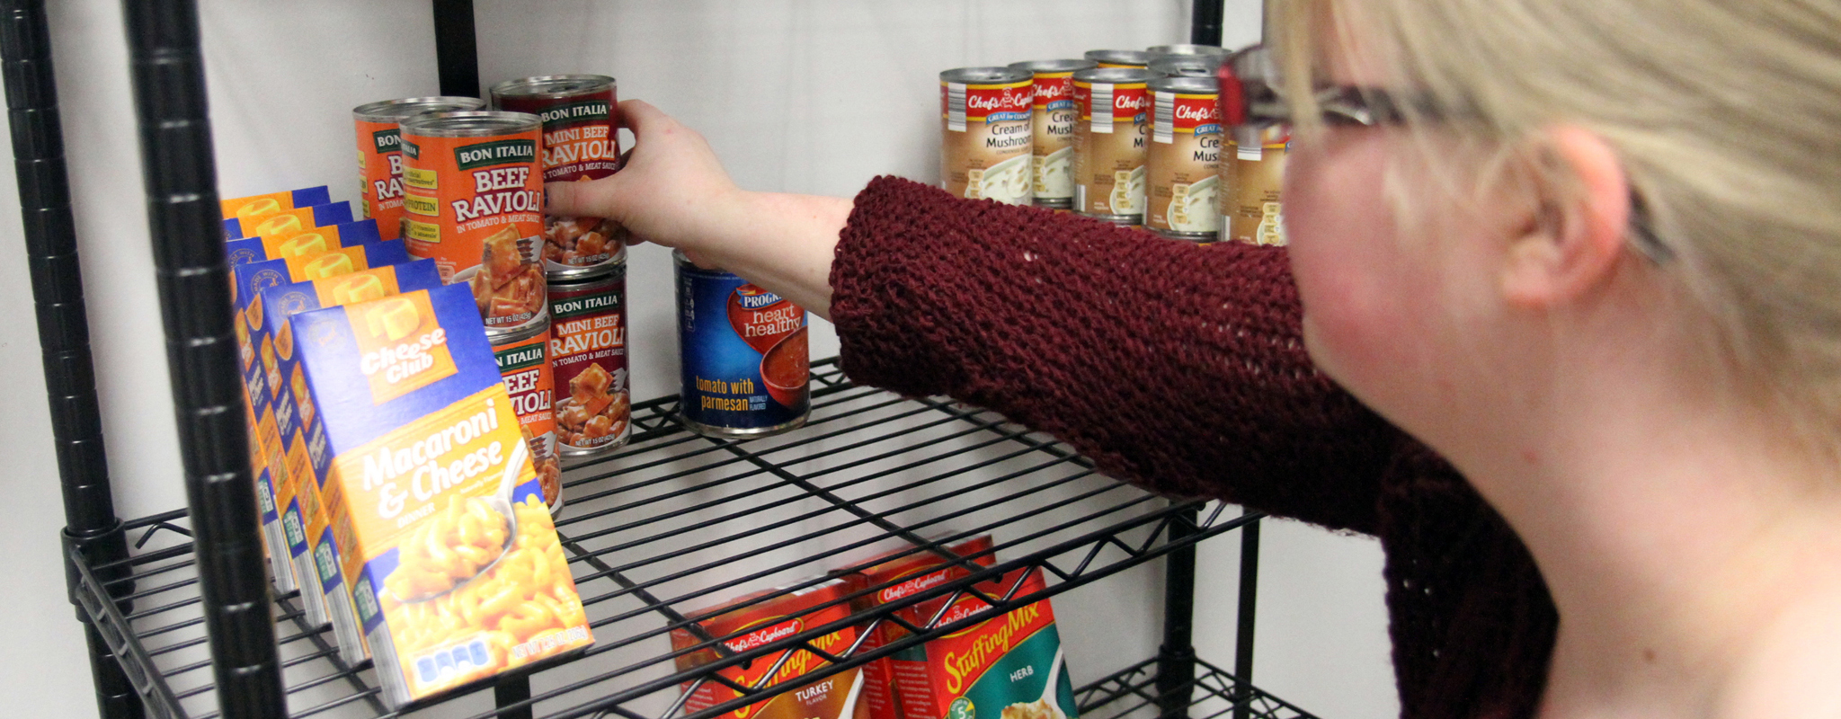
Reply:
<svg viewBox="0 0 1841 719"><path fill-rule="evenodd" d="M770 588L753 592L718 607L698 612L698 625L731 653L758 649L770 642L817 629L851 616L851 603L845 601L856 587L854 577L836 577L814 587L781 594L771 599L764 596L781 590ZM736 636L729 636L736 634ZM858 629L845 627L821 634L810 644L828 655L841 655L856 644ZM701 640L687 629L672 629L672 649L685 651ZM792 656L786 656L788 651ZM676 658L677 669L687 671L722 658L714 647L696 649ZM782 662L784 658L784 662ZM716 669L718 675L742 684L755 686L775 671L766 686L788 686L773 697L720 713L722 719L869 719L869 710L862 702L862 669L845 669L816 682L799 682L828 662L806 649L775 651L757 656L751 662ZM788 684L792 682L792 684ZM685 697L685 712L701 712L740 697L738 691L720 682L703 682Z"/></svg>

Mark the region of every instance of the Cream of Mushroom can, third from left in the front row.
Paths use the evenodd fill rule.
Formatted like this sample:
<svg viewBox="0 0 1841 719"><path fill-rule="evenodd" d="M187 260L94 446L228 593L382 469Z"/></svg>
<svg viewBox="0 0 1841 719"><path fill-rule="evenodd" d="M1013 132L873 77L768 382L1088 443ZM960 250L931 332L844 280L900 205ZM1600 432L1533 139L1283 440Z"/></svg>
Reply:
<svg viewBox="0 0 1841 719"><path fill-rule="evenodd" d="M1073 74L1073 210L1116 224L1143 224L1151 132L1149 70Z"/></svg>

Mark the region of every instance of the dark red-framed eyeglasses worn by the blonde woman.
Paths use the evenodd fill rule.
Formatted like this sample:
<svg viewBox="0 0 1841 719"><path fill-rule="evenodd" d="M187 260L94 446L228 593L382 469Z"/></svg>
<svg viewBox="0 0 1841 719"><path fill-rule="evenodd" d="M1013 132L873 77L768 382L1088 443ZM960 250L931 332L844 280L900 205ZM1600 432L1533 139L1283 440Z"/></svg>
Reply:
<svg viewBox="0 0 1841 719"><path fill-rule="evenodd" d="M1235 68L1239 66L1239 72ZM1243 74L1246 77L1243 77ZM1291 103L1265 77L1276 77L1263 51L1230 55L1217 70L1221 79L1221 121L1228 127L1259 131L1291 125L1296 120ZM1314 94L1318 118L1335 127L1386 127L1416 121L1449 121L1464 112L1453 112L1429 97L1399 97L1388 90L1366 86L1327 86ZM1655 265L1668 263L1675 252L1655 234L1650 206L1635 188L1629 191L1629 243Z"/></svg>

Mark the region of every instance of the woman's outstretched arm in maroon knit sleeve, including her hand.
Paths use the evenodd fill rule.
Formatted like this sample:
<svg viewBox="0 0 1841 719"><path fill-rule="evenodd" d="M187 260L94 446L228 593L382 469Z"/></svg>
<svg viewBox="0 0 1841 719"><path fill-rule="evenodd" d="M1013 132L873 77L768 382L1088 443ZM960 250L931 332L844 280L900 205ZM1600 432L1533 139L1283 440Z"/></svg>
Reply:
<svg viewBox="0 0 1841 719"><path fill-rule="evenodd" d="M1403 436L1303 351L1281 248L1195 245L878 178L856 200L744 191L700 134L620 103L620 173L550 184L830 318L858 382L952 395L1106 473L1372 531Z"/></svg>

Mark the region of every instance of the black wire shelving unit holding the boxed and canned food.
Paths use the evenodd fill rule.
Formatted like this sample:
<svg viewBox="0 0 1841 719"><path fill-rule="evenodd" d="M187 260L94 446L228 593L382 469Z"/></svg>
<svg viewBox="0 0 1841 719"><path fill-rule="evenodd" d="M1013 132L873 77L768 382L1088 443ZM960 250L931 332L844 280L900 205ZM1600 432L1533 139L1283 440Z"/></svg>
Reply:
<svg viewBox="0 0 1841 719"><path fill-rule="evenodd" d="M433 4L442 92L477 94L471 2ZM0 0L7 110L64 487L66 574L87 629L99 712L109 719L420 713L429 706L388 712L368 662L341 662L330 629L309 627L298 594L276 596L263 576L236 406L241 386L215 228L197 9L190 0L125 0L123 9L188 495L188 509L125 522L114 517L101 454L44 2ZM1197 2L1193 28L1191 42L1219 44L1221 4ZM565 473L569 506L556 528L596 644L565 662L444 695L434 702L442 715L707 719L963 629L897 618L904 607L976 594L1013 609L1162 561L1162 647L1079 688L1081 713L1311 717L1250 682L1256 513L1149 495L992 412L852 386L836 360L814 362L812 421L784 436L701 438L683 428L676 403L635 405L628 447ZM1189 636L1195 544L1228 531L1241 533L1233 671L1198 660ZM983 557L944 548L978 533L996 537L989 568L972 563ZM933 552L972 572L742 653L685 620L758 587L790 592L825 581L891 546ZM1044 572L1048 588L974 588L1018 568ZM845 623L886 622L913 634L876 651L823 653L810 644ZM694 649L674 651L672 629L692 631L722 656L677 669L674 658ZM828 664L773 686L716 677L790 647ZM724 682L738 697L683 712L683 688L703 682Z"/></svg>

